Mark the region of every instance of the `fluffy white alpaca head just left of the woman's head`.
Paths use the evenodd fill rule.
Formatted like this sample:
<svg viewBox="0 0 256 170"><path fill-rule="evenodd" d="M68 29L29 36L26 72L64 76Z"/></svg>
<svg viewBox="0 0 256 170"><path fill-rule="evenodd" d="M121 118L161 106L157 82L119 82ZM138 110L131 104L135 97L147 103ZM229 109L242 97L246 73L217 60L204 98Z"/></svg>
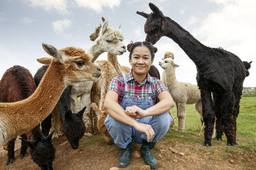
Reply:
<svg viewBox="0 0 256 170"><path fill-rule="evenodd" d="M105 19L103 20L105 21ZM103 23L103 26L99 26L100 32L94 35L91 35L91 40L95 39L95 36L98 36L96 38L95 42L97 45L100 46L100 50L104 52L108 52L114 55L122 55L122 53L125 53L125 44L122 42L124 39L122 32L120 32L120 27L118 29L114 29L111 27L108 27L109 23L105 21ZM96 32L98 32L98 29L96 28ZM94 38L93 38L94 37Z"/></svg>

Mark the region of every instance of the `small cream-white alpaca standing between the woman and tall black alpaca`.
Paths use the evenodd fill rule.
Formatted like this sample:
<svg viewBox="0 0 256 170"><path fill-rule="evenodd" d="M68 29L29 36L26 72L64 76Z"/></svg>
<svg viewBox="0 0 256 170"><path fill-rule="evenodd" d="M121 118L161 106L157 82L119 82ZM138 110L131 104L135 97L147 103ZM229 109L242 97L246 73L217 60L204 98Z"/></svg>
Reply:
<svg viewBox="0 0 256 170"><path fill-rule="evenodd" d="M198 111L202 118L202 104L200 97L200 90L197 85L178 82L175 77L175 64L172 58L165 58L159 65L164 69L165 76L162 79L171 93L171 97L176 103L178 115L178 131L184 132L185 118L186 118L186 104L195 104L195 110ZM203 130L203 128L202 128ZM202 130L200 134L202 133Z"/></svg>

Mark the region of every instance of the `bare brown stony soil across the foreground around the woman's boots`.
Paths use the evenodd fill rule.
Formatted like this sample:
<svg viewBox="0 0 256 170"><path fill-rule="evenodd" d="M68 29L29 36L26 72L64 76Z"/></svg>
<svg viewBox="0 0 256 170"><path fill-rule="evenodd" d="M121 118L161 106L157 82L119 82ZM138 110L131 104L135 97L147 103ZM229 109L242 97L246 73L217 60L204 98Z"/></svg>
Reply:
<svg viewBox="0 0 256 170"><path fill-rule="evenodd" d="M169 133L176 132L169 130ZM100 134L84 136L76 150L70 147L65 136L52 139L52 143L56 148L53 165L55 170L118 167L119 148L116 145L107 145ZM30 156L22 160L19 158L20 145L20 140L17 139L18 150L15 152L16 160L12 165L6 165L7 151L0 149L0 169L40 169L32 162ZM255 151L241 149L238 145L233 147L235 149L229 148L226 141L214 143L211 147L202 147L200 143L180 142L167 136L157 143L152 153L158 160L158 169L256 169ZM145 165L138 152L140 145L133 144L133 149L131 163L124 169L140 169Z"/></svg>

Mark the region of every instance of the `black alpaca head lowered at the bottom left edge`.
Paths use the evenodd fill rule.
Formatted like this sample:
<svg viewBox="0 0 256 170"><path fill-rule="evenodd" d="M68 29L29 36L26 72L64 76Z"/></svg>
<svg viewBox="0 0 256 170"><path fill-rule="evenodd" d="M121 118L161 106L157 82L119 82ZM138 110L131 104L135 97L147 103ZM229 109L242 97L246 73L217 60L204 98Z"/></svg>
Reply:
<svg viewBox="0 0 256 170"><path fill-rule="evenodd" d="M52 134L47 137L37 138L35 141L28 141L21 138L30 147L30 154L33 162L41 169L52 169L52 162L55 158L55 148L52 145Z"/></svg>

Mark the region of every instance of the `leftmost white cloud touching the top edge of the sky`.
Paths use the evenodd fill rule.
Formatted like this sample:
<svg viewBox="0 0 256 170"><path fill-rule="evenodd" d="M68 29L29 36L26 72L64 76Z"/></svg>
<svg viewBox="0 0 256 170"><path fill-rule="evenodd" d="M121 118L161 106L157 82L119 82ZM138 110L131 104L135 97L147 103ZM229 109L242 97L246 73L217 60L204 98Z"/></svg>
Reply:
<svg viewBox="0 0 256 170"><path fill-rule="evenodd" d="M32 7L41 7L44 10L56 10L60 14L69 14L67 11L67 0L22 0Z"/></svg>

